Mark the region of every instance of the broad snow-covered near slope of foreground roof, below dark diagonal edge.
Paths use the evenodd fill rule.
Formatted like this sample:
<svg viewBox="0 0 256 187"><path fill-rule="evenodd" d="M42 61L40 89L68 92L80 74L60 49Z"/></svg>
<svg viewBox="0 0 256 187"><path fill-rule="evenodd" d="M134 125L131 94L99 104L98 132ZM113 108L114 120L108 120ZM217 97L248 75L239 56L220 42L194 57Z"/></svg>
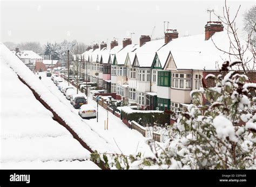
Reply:
<svg viewBox="0 0 256 187"><path fill-rule="evenodd" d="M5 49L2 44L1 49ZM82 169L72 162L80 160L83 169L99 169L95 163L85 161L90 152L52 119L53 114L6 64L4 53L1 50L0 168Z"/></svg>

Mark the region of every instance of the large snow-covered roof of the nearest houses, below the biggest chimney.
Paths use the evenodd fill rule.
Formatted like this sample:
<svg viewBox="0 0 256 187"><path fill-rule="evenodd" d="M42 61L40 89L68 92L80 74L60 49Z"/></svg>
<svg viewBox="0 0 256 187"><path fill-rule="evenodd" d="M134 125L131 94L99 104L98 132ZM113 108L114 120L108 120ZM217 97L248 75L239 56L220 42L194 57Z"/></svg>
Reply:
<svg viewBox="0 0 256 187"><path fill-rule="evenodd" d="M169 53L172 55L177 69L200 69L200 70L216 70L221 64L228 60L232 60L234 56L228 56L224 52L219 51L215 45L224 50L230 50L230 39L227 31L214 33L212 39L205 40L205 34L191 35L181 37L170 41L157 52L162 67L167 60ZM240 40L241 44L246 46L245 41ZM251 53L244 54L244 57L250 56Z"/></svg>

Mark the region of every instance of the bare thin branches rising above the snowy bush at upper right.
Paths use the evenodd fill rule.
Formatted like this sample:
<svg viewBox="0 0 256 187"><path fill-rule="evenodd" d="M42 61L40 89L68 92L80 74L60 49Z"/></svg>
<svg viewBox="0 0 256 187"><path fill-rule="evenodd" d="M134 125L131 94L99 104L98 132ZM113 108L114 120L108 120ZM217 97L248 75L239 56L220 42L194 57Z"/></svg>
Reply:
<svg viewBox="0 0 256 187"><path fill-rule="evenodd" d="M213 39L211 39L215 47L217 47L220 51L224 52L225 54L228 54L230 56L230 59L231 56L234 57L234 59L237 59L239 63L235 67L237 67L238 70L243 71L245 75L248 75L248 73L250 73L251 71L255 71L255 48L249 42L252 37L252 32L248 34L248 40L246 44L244 44L244 42L241 42L240 38L238 37L238 28L235 25L235 19L237 18L240 7L241 5L239 6L237 12L235 13L233 19L230 16L230 7L227 6L226 1L225 6L223 7L223 17L220 17L219 15L216 15L214 13L214 15L217 16L219 20L221 20L222 23L224 23L227 27L227 37L230 40L229 50L225 51L224 49L221 49L214 43ZM252 57L248 58L248 55L244 56L245 53L248 54L249 52L252 53Z"/></svg>

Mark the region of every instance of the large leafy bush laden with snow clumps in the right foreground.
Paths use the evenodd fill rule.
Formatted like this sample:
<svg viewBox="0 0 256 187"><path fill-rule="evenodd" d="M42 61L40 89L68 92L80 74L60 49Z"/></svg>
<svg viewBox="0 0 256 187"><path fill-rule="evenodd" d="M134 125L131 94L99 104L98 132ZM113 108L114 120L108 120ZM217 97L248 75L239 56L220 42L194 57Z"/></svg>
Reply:
<svg viewBox="0 0 256 187"><path fill-rule="evenodd" d="M224 63L224 65L227 63ZM232 66L232 64L230 65ZM226 70L230 67L226 67ZM222 71L213 78L215 87L191 92L193 104L179 112L170 141L157 148L149 141L154 157L109 155L107 166L118 169L252 169L256 168L256 114L251 110L255 83L236 71ZM207 105L201 103L205 97ZM158 149L158 150L157 150ZM103 155L93 153L92 157ZM118 164L117 164L118 163ZM129 165L129 167L127 167Z"/></svg>

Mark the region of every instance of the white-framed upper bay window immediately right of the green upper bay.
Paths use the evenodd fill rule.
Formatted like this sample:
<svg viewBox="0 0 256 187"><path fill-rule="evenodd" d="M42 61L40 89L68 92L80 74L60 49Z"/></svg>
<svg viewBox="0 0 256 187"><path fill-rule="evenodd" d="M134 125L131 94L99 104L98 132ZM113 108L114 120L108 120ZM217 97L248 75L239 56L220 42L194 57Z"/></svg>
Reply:
<svg viewBox="0 0 256 187"><path fill-rule="evenodd" d="M186 77L186 78L185 78ZM174 74L172 73L172 88L191 89L191 74Z"/></svg>

